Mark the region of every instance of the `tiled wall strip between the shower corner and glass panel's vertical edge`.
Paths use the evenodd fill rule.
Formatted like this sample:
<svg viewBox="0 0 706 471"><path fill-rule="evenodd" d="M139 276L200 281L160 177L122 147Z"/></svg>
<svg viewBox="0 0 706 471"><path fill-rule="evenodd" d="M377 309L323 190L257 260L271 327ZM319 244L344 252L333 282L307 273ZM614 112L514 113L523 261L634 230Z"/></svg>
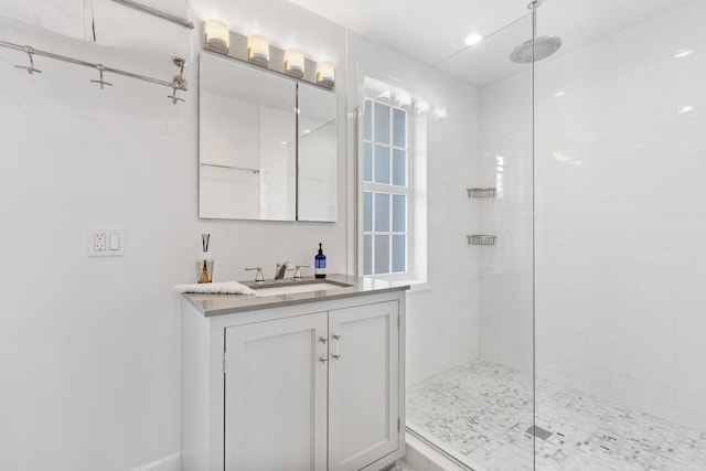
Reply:
<svg viewBox="0 0 706 471"><path fill-rule="evenodd" d="M528 71L528 67L524 67ZM496 235L480 254L480 357L532 374L532 76L480 93L480 233Z"/></svg>

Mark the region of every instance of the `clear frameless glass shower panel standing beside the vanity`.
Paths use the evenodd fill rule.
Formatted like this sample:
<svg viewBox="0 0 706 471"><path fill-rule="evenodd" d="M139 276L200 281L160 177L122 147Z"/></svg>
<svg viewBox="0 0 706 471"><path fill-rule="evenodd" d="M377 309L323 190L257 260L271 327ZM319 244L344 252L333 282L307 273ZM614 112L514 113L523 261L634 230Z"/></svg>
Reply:
<svg viewBox="0 0 706 471"><path fill-rule="evenodd" d="M527 14L410 81L430 90L431 108L445 110L429 120L429 184L439 184L442 211L458 208L464 223L449 217L430 226L443 244L459 247L458 258L430 272L430 285L443 290L446 276L469 271L459 288L470 297L449 306L449 318L454 332L466 328L471 349L457 349L443 336L436 345L409 339L408 372L430 349L456 353L439 355L424 377L408 374L407 426L474 470L533 469L533 74L531 61L510 60L532 38ZM466 109L428 85L451 89L445 79L469 84ZM445 167L435 170L437 160ZM456 264L461 267L451 268ZM416 309L425 295L408 297L410 330L425 315L443 322L438 310Z"/></svg>

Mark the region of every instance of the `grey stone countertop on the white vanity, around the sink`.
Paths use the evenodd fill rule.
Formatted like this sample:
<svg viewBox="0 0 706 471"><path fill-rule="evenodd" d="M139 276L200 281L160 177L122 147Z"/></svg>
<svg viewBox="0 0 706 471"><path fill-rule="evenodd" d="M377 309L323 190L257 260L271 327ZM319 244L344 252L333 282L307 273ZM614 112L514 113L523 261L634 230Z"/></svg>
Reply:
<svg viewBox="0 0 706 471"><path fill-rule="evenodd" d="M370 278L355 278L347 275L327 275L325 280L314 280L314 277L304 277L302 281L287 279L280 283L268 286L293 286L296 283L307 283L313 281L332 281L334 283L350 285L341 287L332 285L331 289L309 292L298 292L295 295L278 296L245 296L245 295L194 295L184 296L205 317L232 314L235 312L255 311L258 309L280 308L285 306L303 304L312 301L323 301L331 299L353 298L371 293L386 291L397 291L409 289L408 285L399 282L375 280ZM242 281L243 285L254 287L254 281Z"/></svg>

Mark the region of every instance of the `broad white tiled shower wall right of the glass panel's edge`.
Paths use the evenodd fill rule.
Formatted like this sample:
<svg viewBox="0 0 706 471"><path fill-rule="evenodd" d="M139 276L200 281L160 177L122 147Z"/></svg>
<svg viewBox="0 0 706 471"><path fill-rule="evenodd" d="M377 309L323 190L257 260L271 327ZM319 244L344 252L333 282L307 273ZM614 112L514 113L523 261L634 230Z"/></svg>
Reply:
<svg viewBox="0 0 706 471"><path fill-rule="evenodd" d="M543 378L706 430L706 3L682 3L537 64L536 361ZM525 79L481 90L481 111ZM481 302L489 357L506 336L484 320L505 311Z"/></svg>

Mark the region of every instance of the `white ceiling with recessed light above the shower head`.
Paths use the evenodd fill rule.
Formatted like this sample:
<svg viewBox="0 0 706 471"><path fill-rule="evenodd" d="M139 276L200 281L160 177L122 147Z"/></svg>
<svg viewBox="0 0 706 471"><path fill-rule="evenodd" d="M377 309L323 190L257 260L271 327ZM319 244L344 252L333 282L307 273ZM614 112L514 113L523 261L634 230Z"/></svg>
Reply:
<svg viewBox="0 0 706 471"><path fill-rule="evenodd" d="M537 35L561 36L558 56L687 1L544 0L537 10ZM438 64L438 69L475 87L521 71L522 66L507 57L515 45L532 38L528 0L290 2L424 64ZM464 40L471 33L485 39L467 47Z"/></svg>

